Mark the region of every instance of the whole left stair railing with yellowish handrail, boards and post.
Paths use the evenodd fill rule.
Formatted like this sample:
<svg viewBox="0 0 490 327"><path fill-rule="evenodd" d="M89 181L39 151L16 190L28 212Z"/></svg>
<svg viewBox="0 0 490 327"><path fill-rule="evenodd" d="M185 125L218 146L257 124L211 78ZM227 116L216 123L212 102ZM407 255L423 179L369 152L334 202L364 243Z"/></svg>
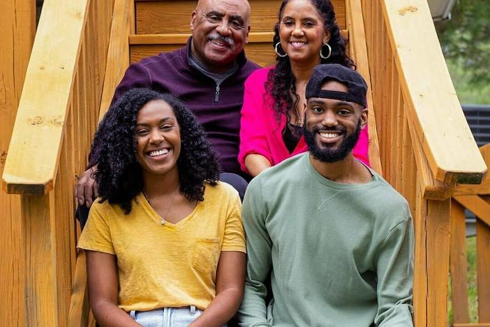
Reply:
<svg viewBox="0 0 490 327"><path fill-rule="evenodd" d="M98 120L112 8L110 0L45 0L38 24L2 183L21 198L27 326L67 325L73 189Z"/></svg>

